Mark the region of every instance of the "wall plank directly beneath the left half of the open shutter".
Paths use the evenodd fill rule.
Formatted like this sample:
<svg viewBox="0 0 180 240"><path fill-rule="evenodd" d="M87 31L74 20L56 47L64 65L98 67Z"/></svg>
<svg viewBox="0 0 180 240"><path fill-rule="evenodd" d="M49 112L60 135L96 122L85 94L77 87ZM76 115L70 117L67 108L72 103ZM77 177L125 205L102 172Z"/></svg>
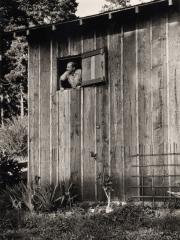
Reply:
<svg viewBox="0 0 180 240"><path fill-rule="evenodd" d="M83 39L83 52L94 49L94 36L87 34ZM89 63L84 64L84 71ZM95 87L84 88L83 99L83 200L95 199L95 159L91 153L95 153Z"/></svg>

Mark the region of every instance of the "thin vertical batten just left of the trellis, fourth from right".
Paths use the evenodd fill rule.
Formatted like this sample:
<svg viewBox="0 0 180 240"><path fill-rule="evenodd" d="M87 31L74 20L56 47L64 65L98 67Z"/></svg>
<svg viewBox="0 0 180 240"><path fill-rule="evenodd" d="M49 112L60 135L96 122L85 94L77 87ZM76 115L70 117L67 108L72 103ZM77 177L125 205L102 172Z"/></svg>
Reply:
<svg viewBox="0 0 180 240"><path fill-rule="evenodd" d="M123 61L124 61L124 58L123 58L123 41L124 39L124 29L123 29L123 25L121 25L121 103L122 103L122 113L124 115L124 92L123 92L123 89L124 89L124 78L123 78L123 75L124 75L124 71L123 71ZM122 116L122 126L124 126L124 116ZM124 128L124 127L123 127ZM122 173L122 181L123 181L123 201L126 201L126 196L125 196L125 151L124 151L124 131L122 131L122 134L123 134L123 145L122 145L122 163L123 163L123 173Z"/></svg>

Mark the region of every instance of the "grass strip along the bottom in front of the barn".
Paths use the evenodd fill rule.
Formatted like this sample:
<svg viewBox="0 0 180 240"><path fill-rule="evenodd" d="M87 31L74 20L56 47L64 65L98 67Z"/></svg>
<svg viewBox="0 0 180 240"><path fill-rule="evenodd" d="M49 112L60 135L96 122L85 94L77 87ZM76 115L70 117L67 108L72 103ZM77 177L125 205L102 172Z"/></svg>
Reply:
<svg viewBox="0 0 180 240"><path fill-rule="evenodd" d="M71 214L70 214L71 213ZM146 221L144 221L146 220ZM164 219L168 229L162 227L163 219L155 216L149 207L127 205L118 207L109 214L85 213L74 208L71 212L56 214L28 215L23 231L29 229L40 239L77 240L176 240L180 238L178 229L171 228L177 217ZM154 222L153 225L151 223ZM165 223L164 223L165 224Z"/></svg>

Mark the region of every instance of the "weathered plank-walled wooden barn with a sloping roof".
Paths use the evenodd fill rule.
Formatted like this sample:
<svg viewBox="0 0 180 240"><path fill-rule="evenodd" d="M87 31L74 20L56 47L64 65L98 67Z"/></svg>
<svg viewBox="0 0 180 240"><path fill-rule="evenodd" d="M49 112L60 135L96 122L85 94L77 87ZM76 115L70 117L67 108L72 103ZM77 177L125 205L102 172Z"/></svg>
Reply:
<svg viewBox="0 0 180 240"><path fill-rule="evenodd" d="M20 30L21 32L24 30ZM30 28L29 181L72 179L83 200L166 199L180 181L180 1ZM80 89L59 91L68 61Z"/></svg>

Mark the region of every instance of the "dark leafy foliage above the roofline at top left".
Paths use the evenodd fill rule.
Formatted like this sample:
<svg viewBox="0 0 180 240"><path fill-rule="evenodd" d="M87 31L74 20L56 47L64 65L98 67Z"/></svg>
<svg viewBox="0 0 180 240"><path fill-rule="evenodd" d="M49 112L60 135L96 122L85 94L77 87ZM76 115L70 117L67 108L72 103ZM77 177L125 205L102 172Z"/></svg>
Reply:
<svg viewBox="0 0 180 240"><path fill-rule="evenodd" d="M6 30L75 18L76 0L2 0L1 25Z"/></svg>

